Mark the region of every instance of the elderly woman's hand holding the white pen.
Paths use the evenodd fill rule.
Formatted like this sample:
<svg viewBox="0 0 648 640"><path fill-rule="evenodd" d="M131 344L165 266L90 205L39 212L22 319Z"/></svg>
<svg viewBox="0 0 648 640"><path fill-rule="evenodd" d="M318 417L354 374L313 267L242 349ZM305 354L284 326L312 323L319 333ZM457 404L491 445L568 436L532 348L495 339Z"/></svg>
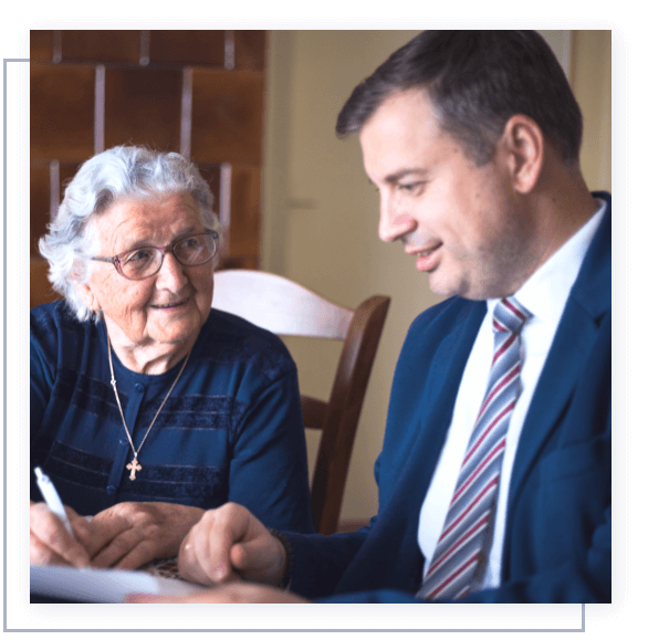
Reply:
<svg viewBox="0 0 648 640"><path fill-rule="evenodd" d="M29 559L32 565L87 567L90 532L86 520L66 506L72 537L63 521L44 502L29 503Z"/></svg>

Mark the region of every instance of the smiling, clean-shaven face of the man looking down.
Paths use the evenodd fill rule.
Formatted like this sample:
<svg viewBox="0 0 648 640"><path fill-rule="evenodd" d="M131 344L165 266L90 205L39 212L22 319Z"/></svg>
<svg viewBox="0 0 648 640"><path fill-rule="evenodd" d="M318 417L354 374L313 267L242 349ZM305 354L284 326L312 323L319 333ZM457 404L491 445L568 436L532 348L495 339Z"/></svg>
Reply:
<svg viewBox="0 0 648 640"><path fill-rule="evenodd" d="M532 224L498 145L477 167L439 127L424 90L390 96L359 134L365 170L380 193L378 234L403 241L430 290L471 300L504 297L530 274Z"/></svg>

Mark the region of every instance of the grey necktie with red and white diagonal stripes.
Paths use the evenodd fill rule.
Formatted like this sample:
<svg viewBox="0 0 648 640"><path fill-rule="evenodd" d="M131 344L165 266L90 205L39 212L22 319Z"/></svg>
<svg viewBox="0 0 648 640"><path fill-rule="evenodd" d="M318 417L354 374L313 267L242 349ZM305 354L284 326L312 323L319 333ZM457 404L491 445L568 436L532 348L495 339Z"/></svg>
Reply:
<svg viewBox="0 0 648 640"><path fill-rule="evenodd" d="M458 599L468 594L494 511L506 430L520 394L520 332L531 314L514 298L493 314L495 353L484 400L459 472L441 537L417 598Z"/></svg>

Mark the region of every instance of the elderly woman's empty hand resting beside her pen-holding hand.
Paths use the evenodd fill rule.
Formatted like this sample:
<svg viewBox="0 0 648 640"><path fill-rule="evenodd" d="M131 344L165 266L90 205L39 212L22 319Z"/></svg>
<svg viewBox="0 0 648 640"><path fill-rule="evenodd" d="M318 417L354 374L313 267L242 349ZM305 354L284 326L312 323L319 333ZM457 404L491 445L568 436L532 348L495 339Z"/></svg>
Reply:
<svg viewBox="0 0 648 640"><path fill-rule="evenodd" d="M106 508L88 524L92 566L136 569L174 556L203 513L168 502L122 502Z"/></svg>

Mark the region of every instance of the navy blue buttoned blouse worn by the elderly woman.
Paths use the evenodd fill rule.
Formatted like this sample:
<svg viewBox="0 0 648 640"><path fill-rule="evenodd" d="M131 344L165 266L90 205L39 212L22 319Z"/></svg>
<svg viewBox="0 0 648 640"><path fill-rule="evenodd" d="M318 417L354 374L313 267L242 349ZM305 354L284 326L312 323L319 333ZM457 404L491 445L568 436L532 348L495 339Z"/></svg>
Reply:
<svg viewBox="0 0 648 640"><path fill-rule="evenodd" d="M295 365L283 343L212 309L185 371L138 454L111 386L105 324L80 323L62 302L31 312L31 496L33 468L64 504L94 515L118 502L247 506L266 526L312 532L309 472ZM182 361L161 375L122 365L119 400L135 448Z"/></svg>

